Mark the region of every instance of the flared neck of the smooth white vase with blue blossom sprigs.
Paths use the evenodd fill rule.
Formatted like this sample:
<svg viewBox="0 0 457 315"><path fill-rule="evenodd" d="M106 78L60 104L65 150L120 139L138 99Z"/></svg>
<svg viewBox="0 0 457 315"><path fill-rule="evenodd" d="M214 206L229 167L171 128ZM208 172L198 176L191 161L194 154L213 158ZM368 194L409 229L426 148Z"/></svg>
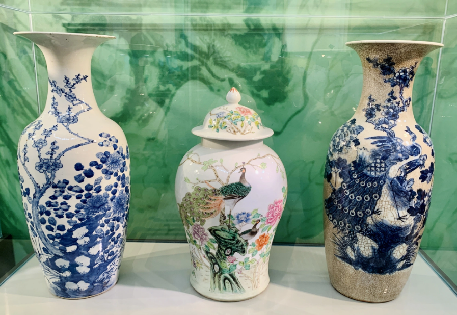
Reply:
<svg viewBox="0 0 457 315"><path fill-rule="evenodd" d="M95 49L112 36L20 32L43 52L48 93L42 115L61 116L89 109L99 111L92 90L91 59Z"/></svg>

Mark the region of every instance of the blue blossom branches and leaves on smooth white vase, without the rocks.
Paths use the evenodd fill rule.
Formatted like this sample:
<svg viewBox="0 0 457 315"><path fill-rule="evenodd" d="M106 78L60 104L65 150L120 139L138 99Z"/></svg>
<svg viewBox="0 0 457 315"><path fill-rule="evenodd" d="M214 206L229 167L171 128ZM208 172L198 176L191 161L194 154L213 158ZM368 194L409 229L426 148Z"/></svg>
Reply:
<svg viewBox="0 0 457 315"><path fill-rule="evenodd" d="M35 187L32 197L30 188L24 187L24 180L19 172L21 193L32 205L32 211L29 212L26 202L24 203L26 220L29 223L31 234L34 235L32 241L36 245L39 259L44 264L45 273L47 276L52 277L52 274L55 272L52 259L56 259L52 255L62 256L67 251L66 247L69 243L62 242L64 235L71 233L72 229L74 230L84 226L89 229L87 235L90 235L90 242L100 238L103 240L104 245L109 244L109 246L103 247L102 255L99 257L100 260L97 260L97 263L108 266L107 271L96 281L97 283L102 283L104 280L100 279L111 277L115 271L115 269L109 266L111 266L111 262L117 257L117 253L122 250L124 242L121 233L116 231L125 228L128 218L127 211L130 202L130 178L127 175L128 146L125 147L124 151L122 146L118 146L118 139L115 136L101 133L100 137L105 140L99 143L99 146L111 147L113 151L98 152L96 157L99 160L91 161L88 167L85 167L82 163L76 163L74 165L74 169L78 172L74 176L76 184L70 185L70 180L67 179L56 180L56 172L64 166L61 158L66 152L95 142L71 130L71 126L78 123L78 115L92 109L89 104L78 99L73 92L77 84L87 81L87 78L88 76L86 75L81 76L78 74L70 80L65 76L64 88L59 87L56 81L49 81L52 93L64 96L66 101L69 102L67 110L65 112L59 111L59 103L56 96L52 95L49 113L56 117L57 124L41 130L42 124L38 120L26 127L22 133L22 135L28 133L32 147L37 150L38 162L35 163L34 167L36 171L45 176L46 180L42 186L38 185L26 166L26 162L30 162L27 156L28 144L25 143L22 150L18 149L17 155L25 173L29 176ZM79 104L85 106L79 112L73 113L72 108ZM48 138L52 136L53 132L58 130L60 124L70 134L84 140L84 142L64 148L59 152L58 141L54 140L51 142ZM41 130L41 138L37 137L37 130ZM46 158L44 158L41 150L47 147L49 149L46 152ZM103 174L104 177L95 176L96 172ZM93 178L92 181L91 178ZM101 185L103 178L105 180L114 178L113 182L105 185L104 191ZM50 195L47 193L49 191L51 191ZM40 204L40 200L44 198L44 195L49 200ZM67 201L71 198L78 200L78 203L75 205L69 204ZM67 224L60 224L62 221L59 221L59 219L64 218ZM88 220L92 218L94 220ZM93 222L95 224L92 224ZM68 241L68 239L66 240ZM78 243L76 251L80 253L87 252L89 249L87 246L86 244Z"/></svg>

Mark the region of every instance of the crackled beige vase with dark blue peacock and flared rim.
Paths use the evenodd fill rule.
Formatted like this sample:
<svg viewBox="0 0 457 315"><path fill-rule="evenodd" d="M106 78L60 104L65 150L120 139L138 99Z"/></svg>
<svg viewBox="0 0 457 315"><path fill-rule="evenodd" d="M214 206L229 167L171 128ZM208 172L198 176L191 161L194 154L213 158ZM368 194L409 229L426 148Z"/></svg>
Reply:
<svg viewBox="0 0 457 315"><path fill-rule="evenodd" d="M416 259L432 194L435 152L413 116L421 59L442 44L346 43L360 56L363 89L354 116L330 142L324 237L332 285L368 302L395 299Z"/></svg>

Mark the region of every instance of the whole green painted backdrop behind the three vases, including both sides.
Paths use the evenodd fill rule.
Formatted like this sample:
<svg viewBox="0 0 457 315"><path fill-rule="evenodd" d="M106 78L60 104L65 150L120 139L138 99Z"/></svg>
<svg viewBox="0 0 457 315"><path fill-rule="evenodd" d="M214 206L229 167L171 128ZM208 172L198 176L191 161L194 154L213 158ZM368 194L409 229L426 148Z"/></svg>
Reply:
<svg viewBox="0 0 457 315"><path fill-rule="evenodd" d="M423 248L446 272L457 253L457 5L445 0L234 1L0 0L0 222L28 238L16 178L16 143L43 109L41 51L13 31L115 35L92 60L99 107L124 129L132 157L128 237L184 240L174 177L190 133L235 86L275 134L289 197L276 242L322 243L322 173L328 142L359 102L360 60L344 46L363 39L444 42L420 65L416 119L437 152ZM394 9L393 9L394 8ZM437 76L438 74L438 76ZM454 114L455 112L455 114ZM430 129L430 127L432 129ZM453 259L457 261L457 259ZM447 266L447 267L446 267Z"/></svg>

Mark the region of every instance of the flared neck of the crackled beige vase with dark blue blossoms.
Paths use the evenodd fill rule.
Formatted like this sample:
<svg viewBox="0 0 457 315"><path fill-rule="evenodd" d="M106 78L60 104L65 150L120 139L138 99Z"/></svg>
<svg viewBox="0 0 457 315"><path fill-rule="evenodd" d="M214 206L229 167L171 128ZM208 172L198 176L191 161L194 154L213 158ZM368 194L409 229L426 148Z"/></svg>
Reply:
<svg viewBox="0 0 457 315"><path fill-rule="evenodd" d="M441 44L424 42L354 42L362 61L363 87L355 117L380 128L414 121L412 92L420 61Z"/></svg>

